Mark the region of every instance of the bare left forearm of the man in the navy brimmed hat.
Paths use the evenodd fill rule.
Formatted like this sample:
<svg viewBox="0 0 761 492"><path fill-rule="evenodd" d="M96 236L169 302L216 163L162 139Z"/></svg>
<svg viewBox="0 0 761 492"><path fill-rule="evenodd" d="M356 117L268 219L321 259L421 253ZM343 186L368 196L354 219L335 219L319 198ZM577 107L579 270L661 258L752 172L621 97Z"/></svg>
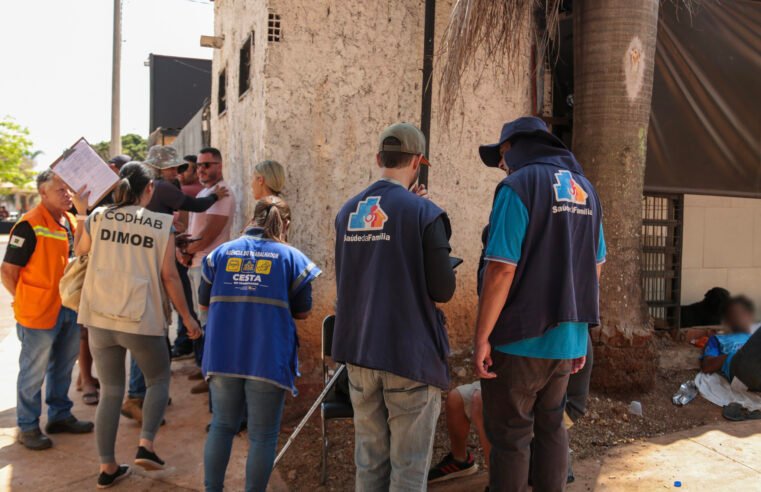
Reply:
<svg viewBox="0 0 761 492"><path fill-rule="evenodd" d="M490 261L484 271L483 289L478 303L478 318L476 321L476 336L474 340L473 360L476 375L482 379L497 377L488 372L491 366L491 345L489 335L494 330L499 313L505 307L507 295L515 277L515 265Z"/></svg>

